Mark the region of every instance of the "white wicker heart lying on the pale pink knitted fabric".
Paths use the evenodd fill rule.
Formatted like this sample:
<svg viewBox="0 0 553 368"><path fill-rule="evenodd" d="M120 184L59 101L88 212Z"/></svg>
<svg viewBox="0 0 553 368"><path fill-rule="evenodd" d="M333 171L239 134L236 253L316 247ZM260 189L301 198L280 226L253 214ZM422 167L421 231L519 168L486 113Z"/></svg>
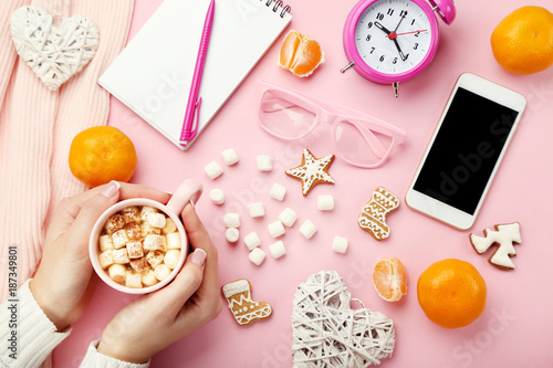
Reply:
<svg viewBox="0 0 553 368"><path fill-rule="evenodd" d="M44 8L21 7L10 20L11 38L18 54L51 91L92 60L98 48L100 34L87 18L62 18L61 24Z"/></svg>

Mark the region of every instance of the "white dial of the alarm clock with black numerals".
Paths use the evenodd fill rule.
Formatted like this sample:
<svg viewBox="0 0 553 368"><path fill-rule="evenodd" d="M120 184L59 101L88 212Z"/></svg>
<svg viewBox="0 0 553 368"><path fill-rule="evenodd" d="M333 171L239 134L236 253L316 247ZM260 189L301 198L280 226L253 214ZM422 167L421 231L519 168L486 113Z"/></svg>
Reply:
<svg viewBox="0 0 553 368"><path fill-rule="evenodd" d="M376 72L405 74L434 56L435 29L428 14L415 2L379 0L361 14L355 45L363 61Z"/></svg>

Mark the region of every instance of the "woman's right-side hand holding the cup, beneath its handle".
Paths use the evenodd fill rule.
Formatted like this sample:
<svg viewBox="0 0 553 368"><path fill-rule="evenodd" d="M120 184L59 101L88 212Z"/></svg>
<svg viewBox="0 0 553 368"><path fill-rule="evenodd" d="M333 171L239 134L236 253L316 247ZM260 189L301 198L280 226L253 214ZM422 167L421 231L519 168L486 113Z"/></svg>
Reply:
<svg viewBox="0 0 553 368"><path fill-rule="evenodd" d="M164 288L117 313L102 335L98 353L124 361L145 362L221 311L217 249L190 203L181 217L191 253L180 273Z"/></svg>

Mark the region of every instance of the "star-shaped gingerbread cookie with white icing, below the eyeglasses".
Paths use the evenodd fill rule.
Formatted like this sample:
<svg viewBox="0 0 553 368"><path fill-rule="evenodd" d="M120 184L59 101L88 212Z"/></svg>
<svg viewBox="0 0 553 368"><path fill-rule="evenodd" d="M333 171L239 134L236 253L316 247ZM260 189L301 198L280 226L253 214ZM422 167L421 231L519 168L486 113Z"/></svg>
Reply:
<svg viewBox="0 0 553 368"><path fill-rule="evenodd" d="M320 182L334 183L334 179L328 174L332 161L334 161L334 155L315 158L307 148L304 148L302 165L285 172L302 181L302 193L307 196L310 190Z"/></svg>

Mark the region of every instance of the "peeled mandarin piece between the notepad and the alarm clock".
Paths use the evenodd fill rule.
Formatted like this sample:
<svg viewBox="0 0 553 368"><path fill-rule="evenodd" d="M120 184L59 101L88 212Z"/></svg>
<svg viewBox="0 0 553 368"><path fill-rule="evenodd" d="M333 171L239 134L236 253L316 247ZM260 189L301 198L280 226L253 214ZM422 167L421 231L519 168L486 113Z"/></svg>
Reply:
<svg viewBox="0 0 553 368"><path fill-rule="evenodd" d="M282 43L279 65L294 75L304 77L324 63L324 52L317 41L309 35L291 30Z"/></svg>

